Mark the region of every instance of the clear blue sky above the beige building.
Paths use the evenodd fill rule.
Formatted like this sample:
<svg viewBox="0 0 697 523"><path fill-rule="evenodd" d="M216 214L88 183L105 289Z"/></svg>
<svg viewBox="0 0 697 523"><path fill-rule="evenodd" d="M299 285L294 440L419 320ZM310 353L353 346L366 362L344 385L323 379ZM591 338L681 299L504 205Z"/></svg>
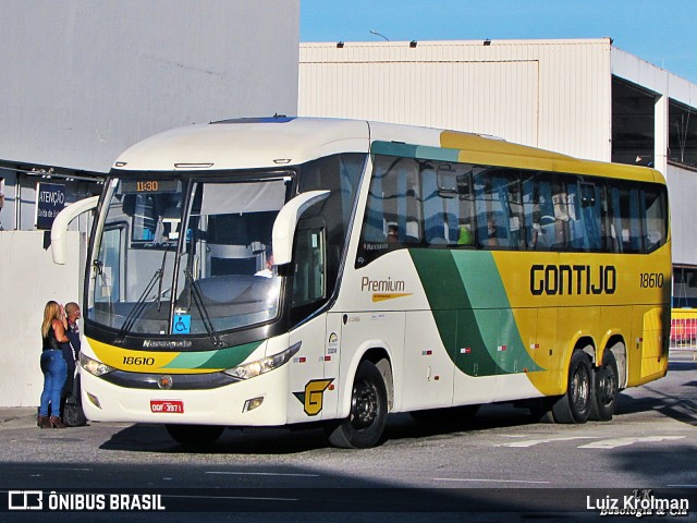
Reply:
<svg viewBox="0 0 697 523"><path fill-rule="evenodd" d="M697 84L697 0L301 0L301 41L606 36Z"/></svg>

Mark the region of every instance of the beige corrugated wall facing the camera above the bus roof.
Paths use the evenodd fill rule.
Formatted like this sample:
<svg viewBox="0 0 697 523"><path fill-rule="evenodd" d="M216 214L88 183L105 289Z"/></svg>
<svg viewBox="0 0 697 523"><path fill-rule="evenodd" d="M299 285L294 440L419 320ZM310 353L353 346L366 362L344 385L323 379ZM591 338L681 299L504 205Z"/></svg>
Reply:
<svg viewBox="0 0 697 523"><path fill-rule="evenodd" d="M301 115L493 134L610 160L609 38L302 44Z"/></svg>

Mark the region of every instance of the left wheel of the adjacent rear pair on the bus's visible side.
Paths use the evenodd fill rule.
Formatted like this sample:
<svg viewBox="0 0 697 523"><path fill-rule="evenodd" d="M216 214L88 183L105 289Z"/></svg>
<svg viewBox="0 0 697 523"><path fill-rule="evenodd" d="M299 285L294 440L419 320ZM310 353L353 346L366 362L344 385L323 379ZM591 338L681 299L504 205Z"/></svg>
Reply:
<svg viewBox="0 0 697 523"><path fill-rule="evenodd" d="M552 405L557 423L586 423L590 415L592 369L583 351L574 351L568 364L566 393Z"/></svg>

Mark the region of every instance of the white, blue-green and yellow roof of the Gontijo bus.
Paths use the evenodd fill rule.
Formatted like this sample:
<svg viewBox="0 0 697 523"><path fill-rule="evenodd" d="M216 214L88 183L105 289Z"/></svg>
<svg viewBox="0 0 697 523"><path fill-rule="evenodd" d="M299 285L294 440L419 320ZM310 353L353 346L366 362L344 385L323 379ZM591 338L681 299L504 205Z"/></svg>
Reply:
<svg viewBox="0 0 697 523"><path fill-rule="evenodd" d="M665 183L656 170L582 160L493 136L362 120L233 119L176 127L126 149L120 170L279 168L338 153L380 153Z"/></svg>

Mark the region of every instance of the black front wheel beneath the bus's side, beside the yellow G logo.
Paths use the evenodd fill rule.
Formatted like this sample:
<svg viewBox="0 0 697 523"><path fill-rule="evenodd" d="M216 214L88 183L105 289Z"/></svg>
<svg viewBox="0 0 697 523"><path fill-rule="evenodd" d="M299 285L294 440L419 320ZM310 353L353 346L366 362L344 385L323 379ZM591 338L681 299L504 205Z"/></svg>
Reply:
<svg viewBox="0 0 697 523"><path fill-rule="evenodd" d="M375 447L388 418L388 392L384 379L372 363L363 361L356 369L351 392L351 414L328 426L329 442L342 449Z"/></svg>

